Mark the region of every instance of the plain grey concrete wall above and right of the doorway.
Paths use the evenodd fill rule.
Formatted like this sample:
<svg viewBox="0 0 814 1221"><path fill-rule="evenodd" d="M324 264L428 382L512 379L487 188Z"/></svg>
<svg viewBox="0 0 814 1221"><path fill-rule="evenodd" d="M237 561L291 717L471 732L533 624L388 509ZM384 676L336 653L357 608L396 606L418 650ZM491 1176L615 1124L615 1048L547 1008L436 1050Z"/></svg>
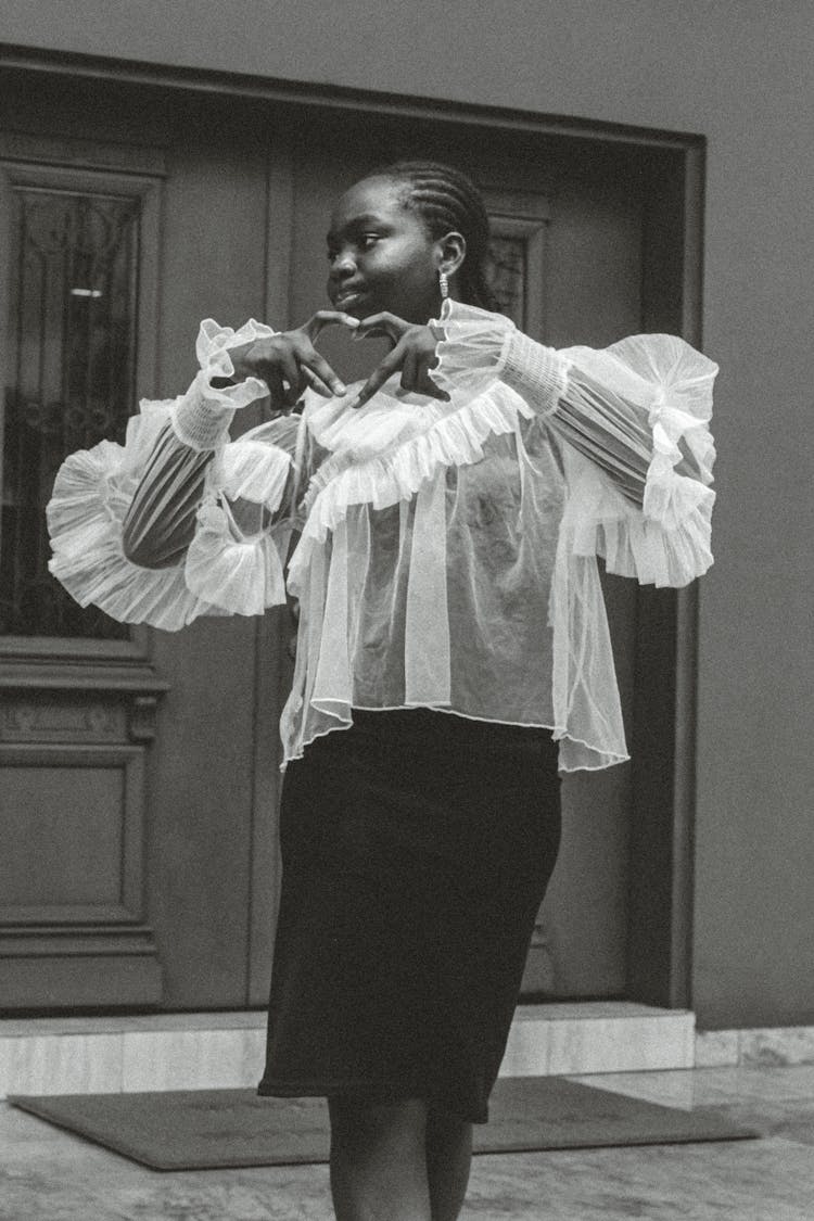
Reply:
<svg viewBox="0 0 814 1221"><path fill-rule="evenodd" d="M226 17L225 17L226 13ZM814 1022L810 0L5 0L0 40L703 133L716 554L702 582L694 1005Z"/></svg>

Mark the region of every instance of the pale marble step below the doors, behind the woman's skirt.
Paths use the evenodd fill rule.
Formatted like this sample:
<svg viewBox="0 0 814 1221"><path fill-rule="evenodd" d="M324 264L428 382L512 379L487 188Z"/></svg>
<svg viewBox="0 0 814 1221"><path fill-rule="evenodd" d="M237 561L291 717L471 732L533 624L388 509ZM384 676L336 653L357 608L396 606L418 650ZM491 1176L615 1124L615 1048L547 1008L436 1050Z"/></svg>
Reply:
<svg viewBox="0 0 814 1221"><path fill-rule="evenodd" d="M265 1015L166 1013L0 1021L6 1094L228 1089L256 1084ZM500 1074L691 1068L694 1015L626 1001L521 1005Z"/></svg>

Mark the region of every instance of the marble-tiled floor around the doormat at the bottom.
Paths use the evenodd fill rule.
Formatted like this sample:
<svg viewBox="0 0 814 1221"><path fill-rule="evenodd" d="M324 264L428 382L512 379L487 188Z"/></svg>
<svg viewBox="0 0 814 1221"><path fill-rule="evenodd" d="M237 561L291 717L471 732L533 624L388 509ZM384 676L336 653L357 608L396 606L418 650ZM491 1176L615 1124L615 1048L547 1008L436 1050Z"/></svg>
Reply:
<svg viewBox="0 0 814 1221"><path fill-rule="evenodd" d="M760 1140L475 1159L465 1221L814 1221L814 1065L580 1078ZM0 1221L328 1221L327 1168L154 1173L0 1106Z"/></svg>

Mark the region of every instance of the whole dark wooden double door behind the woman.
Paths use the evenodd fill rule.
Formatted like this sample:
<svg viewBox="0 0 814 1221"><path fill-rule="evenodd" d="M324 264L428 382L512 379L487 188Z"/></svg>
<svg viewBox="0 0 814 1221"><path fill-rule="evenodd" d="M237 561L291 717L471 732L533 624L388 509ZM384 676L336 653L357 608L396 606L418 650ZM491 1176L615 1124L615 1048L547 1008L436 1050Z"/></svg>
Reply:
<svg viewBox="0 0 814 1221"><path fill-rule="evenodd" d="M400 155L450 160L483 187L505 309L530 333L556 347L603 346L642 328L653 182L625 145L148 85L24 74L7 84L0 203L26 192L61 206L104 199L131 226L121 316L106 339L116 339L129 381L116 382L105 435L121 430L137 396L185 387L201 317L239 325L254 315L279 327L323 305L330 201ZM121 630L59 601L37 552L41 504L60 446L93 441L60 421L93 418L99 404L68 376L72 360L89 354L87 328L78 355L65 349L70 327L21 348L20 288L11 288L20 232L9 226L0 245L0 309L11 310L0 562L17 602L26 582L32 592L27 609L0 624L0 1004L262 1005L277 894L286 613L201 620L167 635ZM32 292L35 314L37 283ZM347 377L375 357L367 346L342 348L336 333L325 348ZM32 463L37 477L22 480ZM33 551L20 542L23 513L37 519ZM15 568L9 556L29 551L33 567ZM609 580L607 593L630 719L636 590ZM627 766L566 781L564 844L528 994L625 993L631 810Z"/></svg>

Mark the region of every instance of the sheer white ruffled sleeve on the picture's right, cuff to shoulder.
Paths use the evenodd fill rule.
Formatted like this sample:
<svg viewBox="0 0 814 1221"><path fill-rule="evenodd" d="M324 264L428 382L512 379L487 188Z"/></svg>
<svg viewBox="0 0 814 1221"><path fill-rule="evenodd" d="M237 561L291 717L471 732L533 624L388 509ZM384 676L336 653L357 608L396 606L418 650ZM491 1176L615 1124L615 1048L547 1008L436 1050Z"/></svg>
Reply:
<svg viewBox="0 0 814 1221"><path fill-rule="evenodd" d="M670 335L558 352L503 315L449 302L433 325L442 388L475 392L499 379L564 442L561 529L572 554L602 556L610 571L658 586L707 571L711 360Z"/></svg>

